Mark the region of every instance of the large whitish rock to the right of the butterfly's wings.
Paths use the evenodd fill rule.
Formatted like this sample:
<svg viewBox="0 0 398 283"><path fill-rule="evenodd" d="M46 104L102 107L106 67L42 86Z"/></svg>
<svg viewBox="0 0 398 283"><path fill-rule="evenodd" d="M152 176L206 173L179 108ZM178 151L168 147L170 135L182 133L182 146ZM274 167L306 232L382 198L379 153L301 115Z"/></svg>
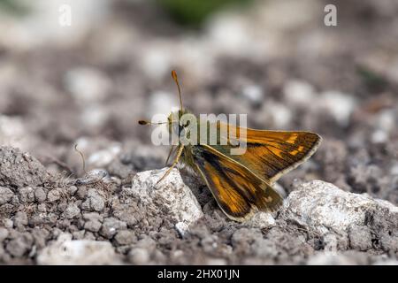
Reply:
<svg viewBox="0 0 398 283"><path fill-rule="evenodd" d="M321 180L303 183L287 196L282 208L287 218L310 226L320 234L347 232L350 225L364 225L368 210L387 209L398 217L398 207L369 195L348 193Z"/></svg>

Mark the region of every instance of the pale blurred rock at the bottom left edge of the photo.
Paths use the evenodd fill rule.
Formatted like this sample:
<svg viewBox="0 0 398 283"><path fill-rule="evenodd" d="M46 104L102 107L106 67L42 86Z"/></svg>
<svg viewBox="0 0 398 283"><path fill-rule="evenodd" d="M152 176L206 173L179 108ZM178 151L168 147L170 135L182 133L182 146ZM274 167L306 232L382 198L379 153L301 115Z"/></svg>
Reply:
<svg viewBox="0 0 398 283"><path fill-rule="evenodd" d="M109 241L58 239L42 249L37 264L120 264Z"/></svg>

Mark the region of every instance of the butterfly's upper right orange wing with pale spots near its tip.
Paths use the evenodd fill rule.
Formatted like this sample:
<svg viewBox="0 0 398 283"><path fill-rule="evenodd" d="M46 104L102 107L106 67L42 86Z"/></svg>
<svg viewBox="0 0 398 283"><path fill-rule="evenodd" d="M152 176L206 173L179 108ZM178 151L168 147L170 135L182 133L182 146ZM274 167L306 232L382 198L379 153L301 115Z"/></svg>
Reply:
<svg viewBox="0 0 398 283"><path fill-rule="evenodd" d="M228 125L227 128L228 133L231 133L231 126ZM210 146L270 183L310 158L322 140L318 134L310 132L260 131L249 128L246 130L245 138L239 138L240 127L237 127L236 134L233 134L238 137L235 141L246 142L246 151L241 155L231 154L234 147L231 145L233 138L230 136L224 137L227 140L226 145Z"/></svg>

